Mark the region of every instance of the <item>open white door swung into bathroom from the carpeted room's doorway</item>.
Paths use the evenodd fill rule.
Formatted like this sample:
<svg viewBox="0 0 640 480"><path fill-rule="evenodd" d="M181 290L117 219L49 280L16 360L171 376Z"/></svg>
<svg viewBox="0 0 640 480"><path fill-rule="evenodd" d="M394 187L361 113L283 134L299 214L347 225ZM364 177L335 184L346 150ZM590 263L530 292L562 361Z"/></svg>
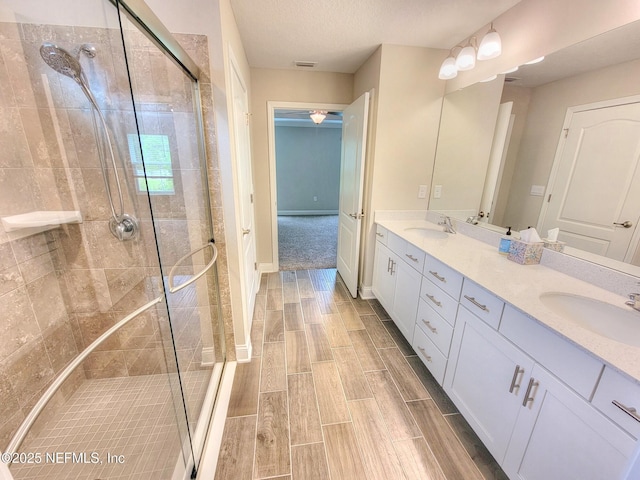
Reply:
<svg viewBox="0 0 640 480"><path fill-rule="evenodd" d="M338 272L353 298L358 296L358 262L362 230L362 186L367 142L369 93L342 114L342 160L338 219Z"/></svg>

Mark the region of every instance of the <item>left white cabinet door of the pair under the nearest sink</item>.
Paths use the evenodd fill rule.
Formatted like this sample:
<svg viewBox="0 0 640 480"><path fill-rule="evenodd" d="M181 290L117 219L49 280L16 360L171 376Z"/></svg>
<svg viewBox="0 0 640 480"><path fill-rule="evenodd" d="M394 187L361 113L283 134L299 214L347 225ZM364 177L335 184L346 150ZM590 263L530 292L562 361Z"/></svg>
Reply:
<svg viewBox="0 0 640 480"><path fill-rule="evenodd" d="M500 463L534 362L462 305L444 387L464 418Z"/></svg>

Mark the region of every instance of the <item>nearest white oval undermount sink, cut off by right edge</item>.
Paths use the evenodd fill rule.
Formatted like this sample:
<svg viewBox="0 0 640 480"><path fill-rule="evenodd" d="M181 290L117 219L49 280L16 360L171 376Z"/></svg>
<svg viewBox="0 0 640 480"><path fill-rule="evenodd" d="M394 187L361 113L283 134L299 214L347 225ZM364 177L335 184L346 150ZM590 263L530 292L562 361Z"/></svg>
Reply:
<svg viewBox="0 0 640 480"><path fill-rule="evenodd" d="M640 347L640 312L569 293L540 295L550 310L598 335Z"/></svg>

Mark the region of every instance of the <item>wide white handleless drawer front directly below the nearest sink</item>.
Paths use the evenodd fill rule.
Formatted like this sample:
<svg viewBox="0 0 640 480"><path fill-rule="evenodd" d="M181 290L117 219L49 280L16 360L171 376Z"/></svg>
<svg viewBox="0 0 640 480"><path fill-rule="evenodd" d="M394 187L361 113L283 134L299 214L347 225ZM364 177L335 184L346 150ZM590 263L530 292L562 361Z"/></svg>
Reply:
<svg viewBox="0 0 640 480"><path fill-rule="evenodd" d="M504 307L498 330L584 398L591 398L602 362L511 305Z"/></svg>

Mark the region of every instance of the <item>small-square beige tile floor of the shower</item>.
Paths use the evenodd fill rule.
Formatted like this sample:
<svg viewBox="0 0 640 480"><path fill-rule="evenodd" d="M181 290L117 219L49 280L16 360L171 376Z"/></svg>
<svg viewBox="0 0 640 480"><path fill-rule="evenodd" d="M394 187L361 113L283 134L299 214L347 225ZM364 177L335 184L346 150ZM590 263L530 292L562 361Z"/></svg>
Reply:
<svg viewBox="0 0 640 480"><path fill-rule="evenodd" d="M174 409L177 375L88 380L43 430L25 440L22 452L39 452L43 463L13 465L16 480L169 479L180 460L181 436ZM199 412L211 370L182 373L188 411ZM171 389L174 389L172 394ZM179 389L178 389L179 395ZM190 417L193 418L193 417ZM197 418L197 416L195 417ZM46 453L99 452L102 464L45 464ZM122 455L108 463L107 453ZM90 460L90 457L88 458Z"/></svg>

